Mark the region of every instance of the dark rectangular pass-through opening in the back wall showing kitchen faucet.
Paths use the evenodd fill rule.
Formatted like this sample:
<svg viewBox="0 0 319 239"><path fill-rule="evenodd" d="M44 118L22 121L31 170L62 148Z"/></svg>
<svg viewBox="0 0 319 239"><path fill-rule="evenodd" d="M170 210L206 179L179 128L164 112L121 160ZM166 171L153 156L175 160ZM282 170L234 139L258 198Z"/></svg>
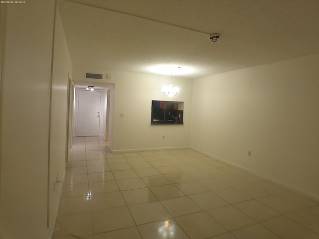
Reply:
<svg viewBox="0 0 319 239"><path fill-rule="evenodd" d="M183 124L184 102L152 101L151 124Z"/></svg>

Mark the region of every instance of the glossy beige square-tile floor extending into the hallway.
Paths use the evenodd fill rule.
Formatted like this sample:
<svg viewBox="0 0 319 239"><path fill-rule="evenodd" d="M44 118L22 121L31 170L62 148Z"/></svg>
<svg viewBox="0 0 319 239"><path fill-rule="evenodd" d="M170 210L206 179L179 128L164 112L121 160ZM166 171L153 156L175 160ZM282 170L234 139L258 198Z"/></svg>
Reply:
<svg viewBox="0 0 319 239"><path fill-rule="evenodd" d="M319 239L319 202L190 149L77 137L53 239Z"/></svg>

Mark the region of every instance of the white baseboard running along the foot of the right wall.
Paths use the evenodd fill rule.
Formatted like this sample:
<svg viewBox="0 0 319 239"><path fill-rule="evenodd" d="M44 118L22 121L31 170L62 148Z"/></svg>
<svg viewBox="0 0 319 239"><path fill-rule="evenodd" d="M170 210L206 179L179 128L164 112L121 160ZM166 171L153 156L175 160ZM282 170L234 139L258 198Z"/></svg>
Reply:
<svg viewBox="0 0 319 239"><path fill-rule="evenodd" d="M245 172L251 173L251 174L253 174L253 175L257 176L257 177L263 178L263 179L265 179L265 180L267 180L267 181L270 181L270 182L272 182L272 183L275 183L275 184L277 184L277 185L280 185L280 186L282 186L282 187L284 187L284 188L286 188L286 189L289 189L289 190L291 190L291 191L293 191L293 192L295 192L295 193L298 193L298 194L301 194L301 195L303 195L303 196L305 196L305 197L308 197L308 198L311 198L311 199L313 199L313 200L319 201L319 196L318 196L318 195L315 195L315 194L312 194L312 193L310 193L310 192L304 191L304 190L302 190L302 189L300 189L300 188L297 188L297 187L295 187L295 186L293 186L293 185L290 185L290 184L287 184L287 183L285 183L285 182L279 181L279 180L277 180L277 179L271 178L271 177L269 177L269 176L267 176L267 175L258 173L258 172L256 172L256 171L253 171L253 170L249 169L249 168L246 168L246 167L240 166L240 165L238 165L238 164L229 162L229 161L227 161L227 160L225 160L225 159L222 159L222 158L217 157L217 156L215 156L215 155L209 154L209 153L207 153L207 152L205 152L205 151L202 151L202 150L200 150L200 149L198 149L198 148L194 148L194 147L190 147L190 148L193 149L193 150L195 150L195 151L197 151L197 152L199 152L199 153L205 154L205 155L207 155L207 156L209 156L209 157L211 157L211 158L217 159L218 161L221 161L221 162L226 163L226 164L228 164L228 165L234 166L234 167L239 168L239 169L241 169L241 170L243 170L243 171L245 171Z"/></svg>

